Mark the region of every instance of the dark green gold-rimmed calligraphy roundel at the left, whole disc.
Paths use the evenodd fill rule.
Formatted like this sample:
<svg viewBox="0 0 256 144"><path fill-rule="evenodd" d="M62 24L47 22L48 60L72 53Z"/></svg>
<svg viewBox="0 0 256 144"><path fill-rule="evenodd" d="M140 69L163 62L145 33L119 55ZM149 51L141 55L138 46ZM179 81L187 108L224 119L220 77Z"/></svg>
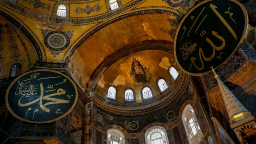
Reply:
<svg viewBox="0 0 256 144"><path fill-rule="evenodd" d="M75 83L54 70L33 70L17 77L5 101L16 118L30 123L50 123L66 116L77 101Z"/></svg>

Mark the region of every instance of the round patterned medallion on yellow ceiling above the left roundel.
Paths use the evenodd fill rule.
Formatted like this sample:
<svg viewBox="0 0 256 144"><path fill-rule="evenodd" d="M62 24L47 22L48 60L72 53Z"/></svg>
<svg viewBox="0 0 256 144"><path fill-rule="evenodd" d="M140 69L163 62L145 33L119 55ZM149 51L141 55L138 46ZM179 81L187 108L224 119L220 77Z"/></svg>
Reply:
<svg viewBox="0 0 256 144"><path fill-rule="evenodd" d="M44 37L44 44L53 51L61 51L68 47L70 39L65 32L51 31Z"/></svg>

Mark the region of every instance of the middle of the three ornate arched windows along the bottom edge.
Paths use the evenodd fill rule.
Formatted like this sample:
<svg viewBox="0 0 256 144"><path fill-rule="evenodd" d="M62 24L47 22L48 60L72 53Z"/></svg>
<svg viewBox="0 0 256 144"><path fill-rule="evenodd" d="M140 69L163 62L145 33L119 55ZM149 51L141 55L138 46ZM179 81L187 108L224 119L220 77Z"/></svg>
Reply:
<svg viewBox="0 0 256 144"><path fill-rule="evenodd" d="M167 133L161 126L153 126L145 133L146 144L169 144Z"/></svg>

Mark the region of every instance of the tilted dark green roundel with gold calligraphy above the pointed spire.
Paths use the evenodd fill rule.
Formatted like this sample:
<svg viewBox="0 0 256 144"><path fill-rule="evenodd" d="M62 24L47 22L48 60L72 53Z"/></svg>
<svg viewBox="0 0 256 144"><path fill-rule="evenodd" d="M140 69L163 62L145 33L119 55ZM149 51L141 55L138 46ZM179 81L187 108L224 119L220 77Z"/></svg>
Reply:
<svg viewBox="0 0 256 144"><path fill-rule="evenodd" d="M206 0L182 19L174 42L175 59L189 75L203 75L227 61L244 41L248 18L236 0Z"/></svg>

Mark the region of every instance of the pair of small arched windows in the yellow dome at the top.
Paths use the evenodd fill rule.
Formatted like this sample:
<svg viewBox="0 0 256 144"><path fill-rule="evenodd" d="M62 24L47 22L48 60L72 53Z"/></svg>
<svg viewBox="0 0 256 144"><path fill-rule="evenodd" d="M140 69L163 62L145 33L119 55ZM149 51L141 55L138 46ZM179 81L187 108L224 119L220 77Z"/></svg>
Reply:
<svg viewBox="0 0 256 144"><path fill-rule="evenodd" d="M109 9L111 11L116 10L116 9L119 8L119 3L118 3L117 0L108 0L108 4L109 4ZM67 17L67 11L68 11L67 4L60 3L57 6L56 16L66 18Z"/></svg>

